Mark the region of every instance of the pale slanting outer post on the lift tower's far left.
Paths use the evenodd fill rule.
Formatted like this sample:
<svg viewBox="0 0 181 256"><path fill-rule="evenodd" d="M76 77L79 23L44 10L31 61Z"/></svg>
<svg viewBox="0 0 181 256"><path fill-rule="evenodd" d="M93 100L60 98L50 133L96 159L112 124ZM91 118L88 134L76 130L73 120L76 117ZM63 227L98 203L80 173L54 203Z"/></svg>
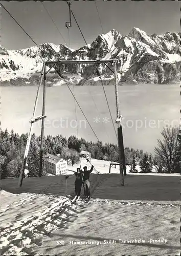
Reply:
<svg viewBox="0 0 181 256"><path fill-rule="evenodd" d="M45 62L43 63L43 67L42 67L42 70L41 70L41 76L40 76L40 80L39 80L39 84L38 84L38 89L37 89L37 94L36 94L36 100L35 100L32 119L34 119L35 113L36 113L36 108L37 108L37 103L38 103L38 96L39 96L39 91L40 91L42 78L43 78L44 66L45 66ZM22 162L21 172L20 172L20 175L19 175L19 186L20 187L22 186L22 180L23 180L24 174L25 174L25 167L26 167L26 163L27 163L27 157L28 157L28 152L29 152L29 148L30 148L30 141L31 141L31 136L32 136L32 128L33 128L33 123L31 123L31 125L30 125L28 140L27 140L27 144L26 144L26 148L25 148L24 160Z"/></svg>

